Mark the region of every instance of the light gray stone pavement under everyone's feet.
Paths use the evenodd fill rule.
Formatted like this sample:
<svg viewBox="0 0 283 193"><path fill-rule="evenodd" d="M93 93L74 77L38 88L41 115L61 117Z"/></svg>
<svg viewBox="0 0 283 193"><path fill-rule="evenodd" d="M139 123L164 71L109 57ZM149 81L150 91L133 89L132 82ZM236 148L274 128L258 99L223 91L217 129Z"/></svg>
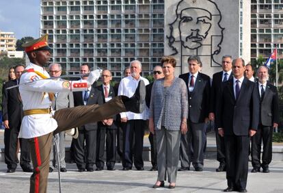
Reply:
<svg viewBox="0 0 283 193"><path fill-rule="evenodd" d="M123 171L121 164L116 170L77 172L75 164L67 164L68 172L62 174L62 192L221 192L226 188L226 173L215 172L218 163L204 161L204 171L178 172L176 188L154 190L152 185L157 179L157 172L150 172L150 162L145 162L144 171L135 169ZM247 179L247 191L255 193L283 192L283 162L271 162L270 173L250 173ZM251 166L250 166L251 170ZM17 168L14 173L6 173L4 162L0 162L0 192L29 192L31 173ZM56 171L49 174L48 192L59 192Z"/></svg>

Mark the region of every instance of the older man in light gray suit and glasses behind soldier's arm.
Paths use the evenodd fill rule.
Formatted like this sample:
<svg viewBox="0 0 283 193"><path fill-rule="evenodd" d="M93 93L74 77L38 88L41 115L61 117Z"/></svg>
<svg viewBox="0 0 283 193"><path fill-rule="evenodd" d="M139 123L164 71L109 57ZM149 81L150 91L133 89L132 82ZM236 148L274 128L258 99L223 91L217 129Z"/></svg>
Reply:
<svg viewBox="0 0 283 193"><path fill-rule="evenodd" d="M51 77L59 77L62 74L62 66L60 64L50 64L49 65L49 75ZM55 100L52 101L53 110L61 110L68 107L74 107L74 99L72 92L57 92L55 93ZM59 133L59 139L54 137L54 140L59 140L59 162L60 171L66 172L66 162L65 162L65 131ZM51 148L50 162L49 162L49 172L53 172L54 166L58 166L57 159L54 159L53 146ZM55 163L54 163L55 161ZM58 168L59 169L59 168Z"/></svg>

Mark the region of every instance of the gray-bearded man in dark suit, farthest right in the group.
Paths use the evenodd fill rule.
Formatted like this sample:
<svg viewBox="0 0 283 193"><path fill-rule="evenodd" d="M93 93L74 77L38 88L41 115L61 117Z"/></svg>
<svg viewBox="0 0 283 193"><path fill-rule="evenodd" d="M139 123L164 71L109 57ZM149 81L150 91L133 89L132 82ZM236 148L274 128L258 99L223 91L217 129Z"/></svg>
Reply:
<svg viewBox="0 0 283 193"><path fill-rule="evenodd" d="M260 66L257 72L258 82L256 88L260 97L260 116L256 135L252 137L252 172L269 172L272 159L273 128L279 123L279 104L277 88L267 82L268 68ZM263 143L262 163L260 164L260 149Z"/></svg>

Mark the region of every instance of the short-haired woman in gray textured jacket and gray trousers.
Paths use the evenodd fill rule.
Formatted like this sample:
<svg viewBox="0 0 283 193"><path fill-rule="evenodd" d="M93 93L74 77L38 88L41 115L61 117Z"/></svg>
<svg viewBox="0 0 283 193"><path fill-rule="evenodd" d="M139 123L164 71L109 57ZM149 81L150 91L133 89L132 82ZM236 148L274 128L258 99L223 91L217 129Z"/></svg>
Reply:
<svg viewBox="0 0 283 193"><path fill-rule="evenodd" d="M175 188L180 149L180 135L187 133L188 96L183 79L174 77L176 60L172 56L161 59L163 79L153 83L150 100L150 132L157 136L158 177L153 188ZM167 173L167 175L166 175Z"/></svg>

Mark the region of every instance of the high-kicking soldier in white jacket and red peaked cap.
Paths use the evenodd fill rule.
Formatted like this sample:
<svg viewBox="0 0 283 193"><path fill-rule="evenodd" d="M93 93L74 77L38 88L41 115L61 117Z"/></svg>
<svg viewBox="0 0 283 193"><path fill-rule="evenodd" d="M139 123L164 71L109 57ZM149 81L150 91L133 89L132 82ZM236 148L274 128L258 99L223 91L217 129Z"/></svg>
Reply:
<svg viewBox="0 0 283 193"><path fill-rule="evenodd" d="M44 70L44 66L49 63L51 55L47 38L48 36L44 35L42 38L23 44L31 63L25 68L19 85L25 114L19 138L29 139L31 146L34 169L30 180L30 192L47 190L49 157L55 133L104 120L120 112L142 112L146 93L144 82L141 81L131 98L120 96L100 106L85 105L53 112L51 101L54 92L86 90L98 79L100 70L92 71L86 81L46 79L49 78L49 74Z"/></svg>

